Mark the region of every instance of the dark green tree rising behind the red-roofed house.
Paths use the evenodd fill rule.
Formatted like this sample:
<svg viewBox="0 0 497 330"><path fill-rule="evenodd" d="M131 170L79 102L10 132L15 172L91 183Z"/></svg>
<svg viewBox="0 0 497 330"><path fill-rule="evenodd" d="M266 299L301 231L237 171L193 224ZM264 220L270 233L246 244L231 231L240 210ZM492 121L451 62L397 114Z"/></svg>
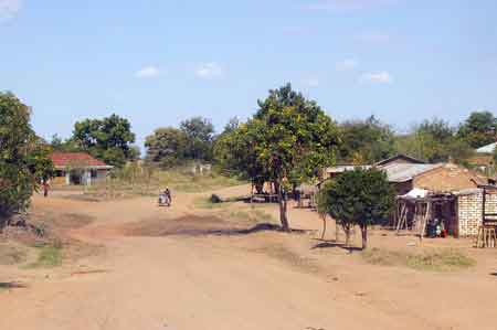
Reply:
<svg viewBox="0 0 497 330"><path fill-rule="evenodd" d="M77 121L72 140L81 149L112 166L123 167L136 157L131 149L135 134L129 120L114 114L103 119Z"/></svg>

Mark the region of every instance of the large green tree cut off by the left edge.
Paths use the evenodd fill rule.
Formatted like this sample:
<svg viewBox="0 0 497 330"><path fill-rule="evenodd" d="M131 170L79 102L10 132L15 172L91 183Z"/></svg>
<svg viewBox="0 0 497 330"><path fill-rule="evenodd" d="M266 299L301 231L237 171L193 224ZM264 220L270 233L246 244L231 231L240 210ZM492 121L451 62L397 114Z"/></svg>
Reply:
<svg viewBox="0 0 497 330"><path fill-rule="evenodd" d="M50 149L30 125L31 110L11 93L0 93L0 226L24 211L41 180L53 173Z"/></svg>

